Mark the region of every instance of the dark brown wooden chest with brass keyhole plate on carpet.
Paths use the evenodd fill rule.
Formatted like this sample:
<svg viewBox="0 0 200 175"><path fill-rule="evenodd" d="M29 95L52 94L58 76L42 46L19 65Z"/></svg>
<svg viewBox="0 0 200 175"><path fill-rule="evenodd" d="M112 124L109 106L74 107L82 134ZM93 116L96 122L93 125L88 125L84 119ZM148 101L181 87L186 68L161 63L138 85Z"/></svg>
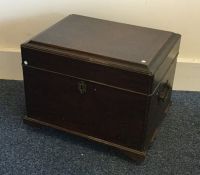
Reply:
<svg viewBox="0 0 200 175"><path fill-rule="evenodd" d="M21 45L27 116L144 159L170 104L180 35L70 15Z"/></svg>

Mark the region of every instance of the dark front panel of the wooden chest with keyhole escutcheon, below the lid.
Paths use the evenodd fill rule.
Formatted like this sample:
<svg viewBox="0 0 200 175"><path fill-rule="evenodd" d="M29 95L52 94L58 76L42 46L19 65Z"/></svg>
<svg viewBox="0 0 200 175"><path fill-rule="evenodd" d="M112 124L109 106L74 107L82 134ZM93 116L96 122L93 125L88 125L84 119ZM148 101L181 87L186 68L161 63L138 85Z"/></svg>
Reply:
<svg viewBox="0 0 200 175"><path fill-rule="evenodd" d="M141 149L147 96L24 66L29 117Z"/></svg>

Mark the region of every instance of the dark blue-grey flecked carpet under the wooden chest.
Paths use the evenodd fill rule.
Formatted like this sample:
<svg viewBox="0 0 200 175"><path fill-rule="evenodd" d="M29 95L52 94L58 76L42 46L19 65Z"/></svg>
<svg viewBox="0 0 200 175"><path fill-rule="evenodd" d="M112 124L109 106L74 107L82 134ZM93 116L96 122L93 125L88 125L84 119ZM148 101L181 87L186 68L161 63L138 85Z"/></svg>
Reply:
<svg viewBox="0 0 200 175"><path fill-rule="evenodd" d="M23 124L22 81L0 81L0 175L200 174L200 93L174 91L173 105L146 160L137 165L109 147Z"/></svg>

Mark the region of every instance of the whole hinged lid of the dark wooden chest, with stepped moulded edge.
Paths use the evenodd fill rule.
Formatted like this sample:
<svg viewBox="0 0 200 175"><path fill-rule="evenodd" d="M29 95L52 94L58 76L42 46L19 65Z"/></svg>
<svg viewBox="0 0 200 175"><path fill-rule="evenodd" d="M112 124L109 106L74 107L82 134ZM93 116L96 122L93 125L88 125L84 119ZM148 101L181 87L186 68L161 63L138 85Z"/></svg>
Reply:
<svg viewBox="0 0 200 175"><path fill-rule="evenodd" d="M32 69L152 95L179 42L172 32L70 15L22 44L22 58Z"/></svg>

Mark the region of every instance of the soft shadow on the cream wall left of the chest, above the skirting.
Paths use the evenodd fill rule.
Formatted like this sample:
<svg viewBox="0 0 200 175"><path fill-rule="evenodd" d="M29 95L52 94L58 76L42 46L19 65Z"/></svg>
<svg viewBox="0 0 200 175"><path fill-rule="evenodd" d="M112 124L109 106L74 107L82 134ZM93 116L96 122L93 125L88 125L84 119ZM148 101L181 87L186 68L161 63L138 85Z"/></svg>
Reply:
<svg viewBox="0 0 200 175"><path fill-rule="evenodd" d="M21 43L45 30L63 17L61 14L50 13L0 22L0 50L13 51L20 49Z"/></svg>

